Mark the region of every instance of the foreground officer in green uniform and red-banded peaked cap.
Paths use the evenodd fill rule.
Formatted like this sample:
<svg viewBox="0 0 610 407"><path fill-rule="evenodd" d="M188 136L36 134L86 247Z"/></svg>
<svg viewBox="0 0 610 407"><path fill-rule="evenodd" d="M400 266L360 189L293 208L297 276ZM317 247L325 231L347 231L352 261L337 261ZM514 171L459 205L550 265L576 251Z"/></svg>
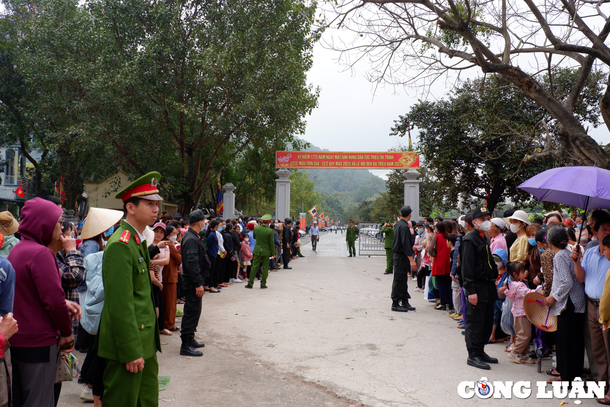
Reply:
<svg viewBox="0 0 610 407"><path fill-rule="evenodd" d="M152 297L148 245L142 233L157 219L161 175L149 172L117 194L126 219L108 240L102 260L104 308L96 345L106 359L104 405L159 405L159 326Z"/></svg>

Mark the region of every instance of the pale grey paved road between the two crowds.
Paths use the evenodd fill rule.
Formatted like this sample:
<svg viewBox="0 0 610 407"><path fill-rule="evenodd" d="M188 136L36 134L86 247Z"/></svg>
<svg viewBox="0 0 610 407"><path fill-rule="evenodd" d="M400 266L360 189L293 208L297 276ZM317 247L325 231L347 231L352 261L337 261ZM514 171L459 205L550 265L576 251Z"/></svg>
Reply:
<svg viewBox="0 0 610 407"><path fill-rule="evenodd" d="M459 398L464 380L516 383L548 376L536 373L536 365L512 363L500 343L486 348L500 359L492 370L468 367L461 330L421 293L412 293L414 282L409 290L417 311L392 312L385 259L329 257L325 245L340 252L340 234L321 237L318 252L304 250L306 257L290 263L293 270L271 272L267 290L235 284L206 294L197 335L207 344L203 358L178 356L179 337L162 337L167 345L160 375L173 379L160 392L168 400L161 405L559 405L536 399L535 383L534 395L523 400ZM542 363L550 369L551 361ZM60 405L82 405L77 391L76 384L66 384Z"/></svg>

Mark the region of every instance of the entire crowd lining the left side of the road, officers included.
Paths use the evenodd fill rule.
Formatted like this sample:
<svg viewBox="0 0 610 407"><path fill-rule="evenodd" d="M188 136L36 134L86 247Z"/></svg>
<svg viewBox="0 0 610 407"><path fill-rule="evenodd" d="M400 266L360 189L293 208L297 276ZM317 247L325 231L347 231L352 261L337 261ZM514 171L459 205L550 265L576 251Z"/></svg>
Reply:
<svg viewBox="0 0 610 407"><path fill-rule="evenodd" d="M159 177L120 191L123 211L89 208L74 223L50 196L20 219L0 213L0 406L57 405L73 375L96 407L157 405L160 335L180 331L180 354L203 356L204 293L267 288L268 271L304 257L290 218L159 215Z"/></svg>

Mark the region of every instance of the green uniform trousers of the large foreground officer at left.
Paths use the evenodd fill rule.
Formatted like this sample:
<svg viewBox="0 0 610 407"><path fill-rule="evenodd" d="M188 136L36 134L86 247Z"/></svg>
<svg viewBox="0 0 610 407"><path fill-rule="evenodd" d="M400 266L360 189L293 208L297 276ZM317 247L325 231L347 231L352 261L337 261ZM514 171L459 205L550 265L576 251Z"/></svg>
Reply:
<svg viewBox="0 0 610 407"><path fill-rule="evenodd" d="M144 359L144 369L131 373L125 364L106 359L104 405L121 407L159 406L159 362L157 355Z"/></svg>

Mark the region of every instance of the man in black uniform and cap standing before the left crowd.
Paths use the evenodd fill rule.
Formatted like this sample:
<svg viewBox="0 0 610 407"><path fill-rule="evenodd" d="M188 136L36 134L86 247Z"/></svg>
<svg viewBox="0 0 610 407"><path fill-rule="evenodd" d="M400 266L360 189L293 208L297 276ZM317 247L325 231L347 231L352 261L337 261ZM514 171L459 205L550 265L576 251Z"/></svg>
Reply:
<svg viewBox="0 0 610 407"><path fill-rule="evenodd" d="M206 260L206 249L202 244L199 232L204 227L206 215L201 209L188 215L188 230L182 236L182 279L186 284L184 316L182 317L180 354L185 356L203 356L203 352L195 348L206 346L195 340L195 330L201 317L201 297L203 297L203 281L207 276L209 266Z"/></svg>

